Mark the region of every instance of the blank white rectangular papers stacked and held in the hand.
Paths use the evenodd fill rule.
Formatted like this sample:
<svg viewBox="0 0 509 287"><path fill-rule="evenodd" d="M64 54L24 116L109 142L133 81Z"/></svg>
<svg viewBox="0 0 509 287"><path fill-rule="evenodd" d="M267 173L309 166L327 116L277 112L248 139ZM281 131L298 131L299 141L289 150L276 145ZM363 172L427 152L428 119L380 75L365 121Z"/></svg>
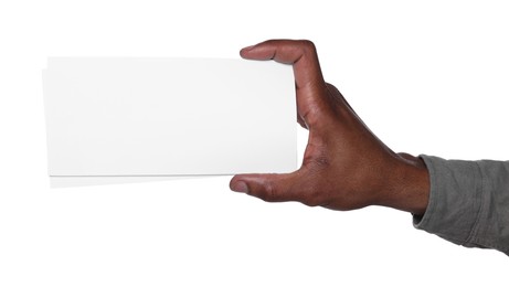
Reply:
<svg viewBox="0 0 509 287"><path fill-rule="evenodd" d="M296 168L289 65L51 57L43 85L53 185Z"/></svg>

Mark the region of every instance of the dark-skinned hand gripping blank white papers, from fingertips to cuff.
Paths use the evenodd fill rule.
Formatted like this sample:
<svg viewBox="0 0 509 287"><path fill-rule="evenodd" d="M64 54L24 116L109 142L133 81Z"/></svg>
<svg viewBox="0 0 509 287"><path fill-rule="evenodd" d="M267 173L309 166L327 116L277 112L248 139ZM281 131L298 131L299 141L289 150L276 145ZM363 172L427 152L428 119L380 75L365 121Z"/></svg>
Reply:
<svg viewBox="0 0 509 287"><path fill-rule="evenodd" d="M393 152L369 130L341 93L324 81L311 42L271 40L241 50L241 56L293 65L297 121L309 129L309 139L299 170L237 174L232 190L269 202L332 210L385 205L424 214L430 193L424 162Z"/></svg>

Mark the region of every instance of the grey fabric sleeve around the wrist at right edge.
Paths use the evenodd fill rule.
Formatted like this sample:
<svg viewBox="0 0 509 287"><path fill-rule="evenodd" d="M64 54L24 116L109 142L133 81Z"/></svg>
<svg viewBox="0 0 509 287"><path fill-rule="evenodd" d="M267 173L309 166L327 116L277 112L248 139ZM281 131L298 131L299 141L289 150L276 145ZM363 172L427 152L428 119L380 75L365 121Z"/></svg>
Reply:
<svg viewBox="0 0 509 287"><path fill-rule="evenodd" d="M509 255L509 161L421 158L431 192L414 226L459 245Z"/></svg>

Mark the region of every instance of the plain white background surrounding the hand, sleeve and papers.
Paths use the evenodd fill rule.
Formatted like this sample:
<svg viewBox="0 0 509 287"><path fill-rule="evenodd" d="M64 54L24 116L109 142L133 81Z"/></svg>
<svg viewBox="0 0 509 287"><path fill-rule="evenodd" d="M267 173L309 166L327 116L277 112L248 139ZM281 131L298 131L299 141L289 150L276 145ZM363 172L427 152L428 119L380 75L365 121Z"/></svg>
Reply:
<svg viewBox="0 0 509 287"><path fill-rule="evenodd" d="M509 159L508 14L503 1L2 1L0 286L507 286L506 255L384 208L268 204L230 177L51 190L41 70L305 38L395 151Z"/></svg>

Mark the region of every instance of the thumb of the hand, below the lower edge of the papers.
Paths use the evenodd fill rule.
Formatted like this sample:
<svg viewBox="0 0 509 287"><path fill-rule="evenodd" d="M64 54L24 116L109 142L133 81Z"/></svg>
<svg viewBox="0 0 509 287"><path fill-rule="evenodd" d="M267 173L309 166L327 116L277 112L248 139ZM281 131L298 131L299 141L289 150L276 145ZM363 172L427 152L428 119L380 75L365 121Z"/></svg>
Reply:
<svg viewBox="0 0 509 287"><path fill-rule="evenodd" d="M247 193L267 202L299 201L299 171L293 173L237 174L230 181L230 189Z"/></svg>

